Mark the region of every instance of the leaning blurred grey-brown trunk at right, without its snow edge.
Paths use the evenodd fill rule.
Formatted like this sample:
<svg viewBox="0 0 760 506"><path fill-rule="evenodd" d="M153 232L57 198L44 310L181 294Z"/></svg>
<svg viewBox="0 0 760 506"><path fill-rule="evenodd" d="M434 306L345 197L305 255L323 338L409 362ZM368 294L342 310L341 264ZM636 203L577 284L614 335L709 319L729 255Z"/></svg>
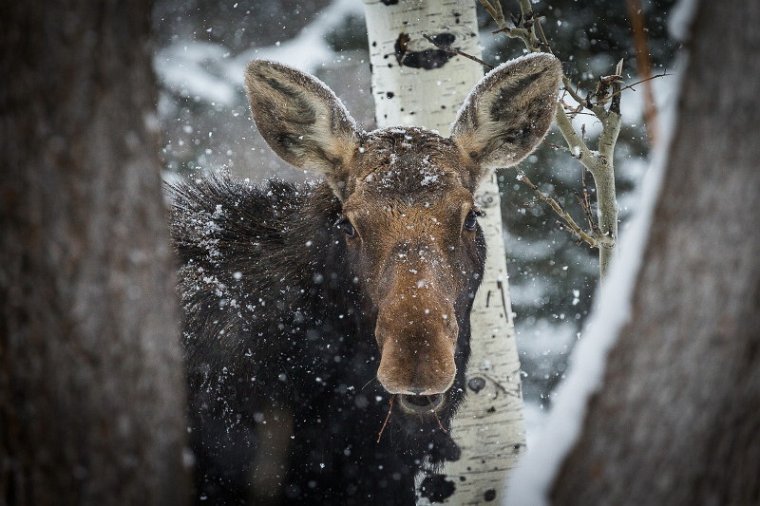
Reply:
<svg viewBox="0 0 760 506"><path fill-rule="evenodd" d="M554 504L760 504L759 23L699 6L633 317Z"/></svg>

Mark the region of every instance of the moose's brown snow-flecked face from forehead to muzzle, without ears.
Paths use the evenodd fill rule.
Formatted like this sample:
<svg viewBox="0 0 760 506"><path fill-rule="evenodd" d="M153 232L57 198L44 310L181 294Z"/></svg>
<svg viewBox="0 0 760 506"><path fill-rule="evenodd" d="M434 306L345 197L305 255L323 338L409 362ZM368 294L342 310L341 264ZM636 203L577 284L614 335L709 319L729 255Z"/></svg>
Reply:
<svg viewBox="0 0 760 506"><path fill-rule="evenodd" d="M341 227L377 315L377 377L390 393L440 400L485 253L463 161L453 142L419 129L360 143Z"/></svg>

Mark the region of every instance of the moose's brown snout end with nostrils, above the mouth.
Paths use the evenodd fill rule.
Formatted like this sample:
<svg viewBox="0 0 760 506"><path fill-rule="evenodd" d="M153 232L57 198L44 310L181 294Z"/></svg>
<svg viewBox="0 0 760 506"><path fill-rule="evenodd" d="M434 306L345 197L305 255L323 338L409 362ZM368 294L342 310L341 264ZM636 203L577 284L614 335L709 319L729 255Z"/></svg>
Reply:
<svg viewBox="0 0 760 506"><path fill-rule="evenodd" d="M442 394L454 383L456 321L441 314L437 319L425 316L414 318L393 311L378 315L375 335L381 358L377 379L389 393Z"/></svg>

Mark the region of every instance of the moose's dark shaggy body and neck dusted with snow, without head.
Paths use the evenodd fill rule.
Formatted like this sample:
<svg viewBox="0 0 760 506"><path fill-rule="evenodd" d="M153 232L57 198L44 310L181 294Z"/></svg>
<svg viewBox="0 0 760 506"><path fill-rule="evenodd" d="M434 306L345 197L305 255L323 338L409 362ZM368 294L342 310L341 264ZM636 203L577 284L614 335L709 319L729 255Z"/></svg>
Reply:
<svg viewBox="0 0 760 506"><path fill-rule="evenodd" d="M375 315L347 265L329 188L211 180L171 193L198 488L219 500L249 494L262 434L280 424L290 427L276 483L286 502L399 504L406 491L412 504L418 463L459 455L447 431L463 392L467 319L438 419L396 406L377 442L391 397L374 379Z"/></svg>

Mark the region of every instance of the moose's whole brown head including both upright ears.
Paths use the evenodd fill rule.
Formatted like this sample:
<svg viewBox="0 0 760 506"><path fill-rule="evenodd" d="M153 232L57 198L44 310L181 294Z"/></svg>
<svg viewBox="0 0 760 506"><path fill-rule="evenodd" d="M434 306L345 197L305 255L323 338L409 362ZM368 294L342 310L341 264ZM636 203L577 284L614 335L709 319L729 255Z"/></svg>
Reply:
<svg viewBox="0 0 760 506"><path fill-rule="evenodd" d="M485 256L478 182L543 139L560 75L548 54L501 66L443 138L419 128L361 132L315 78L267 61L248 66L263 137L285 161L323 173L342 203L337 225L376 316L377 379L408 411L440 407L454 382L460 327L468 327Z"/></svg>

